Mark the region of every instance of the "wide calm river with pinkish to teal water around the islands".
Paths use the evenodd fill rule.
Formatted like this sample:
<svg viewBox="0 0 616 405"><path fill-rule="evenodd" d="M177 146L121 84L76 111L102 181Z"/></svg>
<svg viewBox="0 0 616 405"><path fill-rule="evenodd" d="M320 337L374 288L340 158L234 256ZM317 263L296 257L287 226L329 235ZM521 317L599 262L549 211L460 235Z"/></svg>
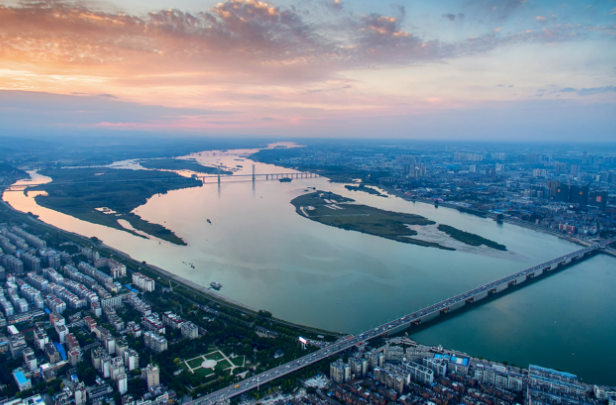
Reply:
<svg viewBox="0 0 616 405"><path fill-rule="evenodd" d="M247 151L194 154L204 164L242 165L236 175L293 172L252 162ZM242 160L240 160L242 159ZM117 167L136 168L131 162ZM186 174L186 173L185 173ZM36 173L35 180L44 180ZM133 258L303 325L359 333L487 281L576 250L570 242L453 209L351 192L325 178L241 181L152 197L136 213L163 224L188 246L144 239L7 192L14 208L67 231L97 236ZM509 251L444 251L402 244L310 221L290 201L316 187L378 208L425 216L504 244ZM211 221L211 224L207 220ZM194 269L185 263L192 263ZM498 361L539 364L616 385L616 258L599 255L411 337Z"/></svg>

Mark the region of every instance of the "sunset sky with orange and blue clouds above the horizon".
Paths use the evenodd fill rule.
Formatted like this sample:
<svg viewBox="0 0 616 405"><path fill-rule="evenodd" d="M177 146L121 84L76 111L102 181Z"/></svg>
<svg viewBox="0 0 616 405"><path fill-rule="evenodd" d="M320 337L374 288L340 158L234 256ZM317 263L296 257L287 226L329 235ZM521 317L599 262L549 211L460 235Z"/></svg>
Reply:
<svg viewBox="0 0 616 405"><path fill-rule="evenodd" d="M0 0L0 134L616 141L616 0Z"/></svg>

